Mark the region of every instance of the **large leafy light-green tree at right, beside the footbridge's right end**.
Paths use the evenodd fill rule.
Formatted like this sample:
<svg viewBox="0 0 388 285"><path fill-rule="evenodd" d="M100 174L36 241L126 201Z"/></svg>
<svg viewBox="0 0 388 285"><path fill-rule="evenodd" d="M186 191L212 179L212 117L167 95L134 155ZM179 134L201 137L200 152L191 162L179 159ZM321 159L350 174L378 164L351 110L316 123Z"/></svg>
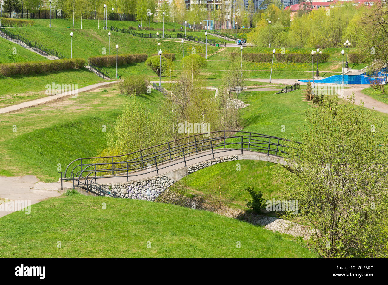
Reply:
<svg viewBox="0 0 388 285"><path fill-rule="evenodd" d="M324 258L386 257L386 126L348 99L327 96L310 107L299 130L303 145L288 144L291 171L279 165L277 177L284 199L299 209L284 218L306 225L308 247Z"/></svg>

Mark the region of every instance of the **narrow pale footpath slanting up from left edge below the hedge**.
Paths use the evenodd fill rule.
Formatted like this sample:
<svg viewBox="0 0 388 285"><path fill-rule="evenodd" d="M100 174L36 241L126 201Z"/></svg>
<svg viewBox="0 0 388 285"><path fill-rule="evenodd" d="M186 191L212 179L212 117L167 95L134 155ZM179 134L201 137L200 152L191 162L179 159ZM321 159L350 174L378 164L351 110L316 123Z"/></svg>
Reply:
<svg viewBox="0 0 388 285"><path fill-rule="evenodd" d="M4 107L4 108L0 109L0 114L9 113L9 112L13 112L13 111L20 110L20 109L41 105L41 104L44 104L44 103L47 103L47 102L50 102L50 101L53 101L53 100L57 100L59 98L63 98L63 97L67 97L67 96L72 96L72 95L75 95L75 94L78 94L78 93L89 91L89 90L92 90L92 89L95 89L95 88L99 88L99 87L102 87L102 86L106 86L106 85L109 85L109 84L114 84L114 83L117 83L117 82L119 82L119 81L116 80L116 81L110 81L110 82L97 83L97 84L93 84L93 85L89 85L89 86L85 86L85 87L79 88L77 90L63 92L61 94L47 96L47 97L39 98L39 99L36 99L36 100L23 102L23 103L20 103L20 104L17 104L17 105L12 105L12 106L8 106L8 107Z"/></svg>

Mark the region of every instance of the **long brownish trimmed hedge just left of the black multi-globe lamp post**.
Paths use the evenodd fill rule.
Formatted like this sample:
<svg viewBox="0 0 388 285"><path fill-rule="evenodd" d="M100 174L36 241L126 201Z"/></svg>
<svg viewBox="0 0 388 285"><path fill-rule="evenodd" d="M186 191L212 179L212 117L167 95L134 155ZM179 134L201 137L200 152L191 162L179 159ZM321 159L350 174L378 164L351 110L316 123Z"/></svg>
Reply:
<svg viewBox="0 0 388 285"><path fill-rule="evenodd" d="M275 53L277 62L311 62L311 53ZM241 53L230 53L230 59L236 60L241 58ZM319 62L326 62L329 53L319 55ZM272 62L272 53L243 53L242 59L251 62ZM314 61L316 57L314 58Z"/></svg>

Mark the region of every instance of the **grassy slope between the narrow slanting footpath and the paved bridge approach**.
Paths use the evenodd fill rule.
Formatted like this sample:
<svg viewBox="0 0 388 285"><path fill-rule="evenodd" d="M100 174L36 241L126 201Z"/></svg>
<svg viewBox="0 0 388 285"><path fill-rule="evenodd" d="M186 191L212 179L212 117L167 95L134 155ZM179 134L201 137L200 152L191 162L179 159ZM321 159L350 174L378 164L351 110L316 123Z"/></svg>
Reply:
<svg viewBox="0 0 388 285"><path fill-rule="evenodd" d="M32 174L58 181L58 163L64 171L75 158L99 154L106 144L102 125L109 131L127 101L136 100L151 110L160 105L159 92L128 98L118 95L116 88L81 93L59 105L2 114L0 175ZM12 132L12 125L17 126L17 132Z"/></svg>

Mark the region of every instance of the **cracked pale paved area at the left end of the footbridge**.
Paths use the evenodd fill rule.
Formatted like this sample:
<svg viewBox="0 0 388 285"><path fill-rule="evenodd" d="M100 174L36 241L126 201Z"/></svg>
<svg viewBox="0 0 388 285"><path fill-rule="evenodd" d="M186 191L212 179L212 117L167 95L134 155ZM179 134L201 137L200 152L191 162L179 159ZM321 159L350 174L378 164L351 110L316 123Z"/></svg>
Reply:
<svg viewBox="0 0 388 285"><path fill-rule="evenodd" d="M71 183L65 182L66 187ZM40 182L33 175L19 177L0 176L0 217L16 211L26 209L27 206L36 204L49 197L60 196L58 190L61 183ZM23 201L23 203L21 203ZM17 204L24 206L15 207Z"/></svg>

